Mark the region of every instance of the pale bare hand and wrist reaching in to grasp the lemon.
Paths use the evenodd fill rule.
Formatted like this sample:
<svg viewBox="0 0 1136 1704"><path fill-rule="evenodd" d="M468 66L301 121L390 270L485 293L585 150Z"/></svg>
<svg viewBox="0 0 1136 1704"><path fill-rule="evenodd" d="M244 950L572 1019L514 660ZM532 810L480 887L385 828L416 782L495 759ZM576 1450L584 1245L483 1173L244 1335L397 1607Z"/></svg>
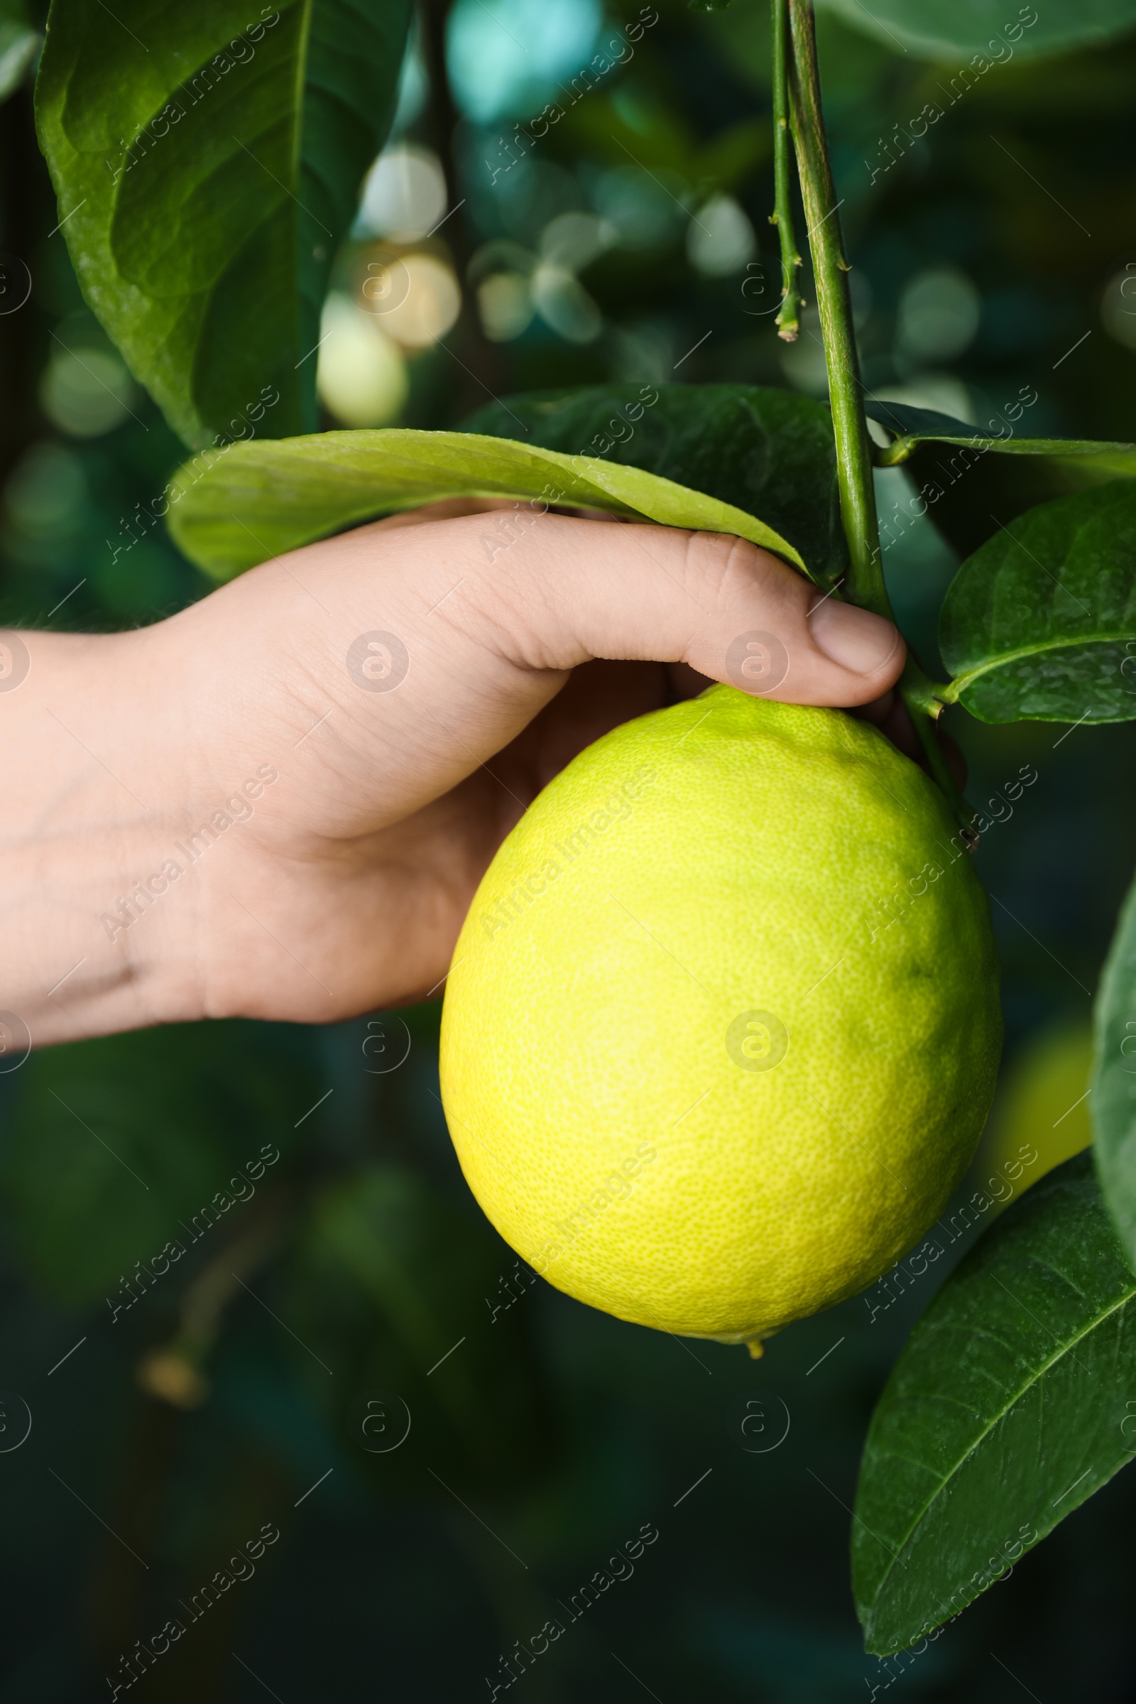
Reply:
<svg viewBox="0 0 1136 1704"><path fill-rule="evenodd" d="M34 1046L439 992L525 806L610 728L734 685L739 634L785 646L768 697L863 705L904 743L896 629L768 552L552 513L501 549L487 508L308 545L152 627L20 636L0 1007ZM392 690L397 651L347 666L373 632L409 658Z"/></svg>

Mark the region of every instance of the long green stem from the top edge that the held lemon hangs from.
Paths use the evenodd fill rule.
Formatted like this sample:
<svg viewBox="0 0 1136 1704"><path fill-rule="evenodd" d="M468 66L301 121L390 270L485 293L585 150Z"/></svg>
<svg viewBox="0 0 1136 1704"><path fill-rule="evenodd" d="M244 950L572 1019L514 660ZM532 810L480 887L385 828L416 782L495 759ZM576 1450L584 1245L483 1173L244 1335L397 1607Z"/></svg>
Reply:
<svg viewBox="0 0 1136 1704"><path fill-rule="evenodd" d="M778 12L789 9L789 39L777 29ZM848 542L846 595L860 608L872 610L894 622L891 598L884 583L884 562L879 544L879 518L875 513L875 484L872 479L872 440L863 412L863 383L852 319L852 291L848 288L850 261L840 228L840 206L833 184L828 153L828 135L821 111L821 78L816 61L816 20L811 0L773 0L773 124L777 140L777 89L785 77L792 118L792 140L797 153L797 176L807 222L807 240L816 279L816 303L824 339L824 365L828 368L828 397L833 411L833 436L836 440L836 481L840 489L840 515ZM789 162L785 160L785 170ZM782 198L778 177L778 215ZM785 235L782 233L782 262ZM783 332L782 332L783 334ZM899 678L899 695L908 707L911 722L927 758L932 777L947 796L947 803L966 835L972 835L974 811L966 803L935 738L933 721L944 700L925 675L918 658L908 648L908 663Z"/></svg>

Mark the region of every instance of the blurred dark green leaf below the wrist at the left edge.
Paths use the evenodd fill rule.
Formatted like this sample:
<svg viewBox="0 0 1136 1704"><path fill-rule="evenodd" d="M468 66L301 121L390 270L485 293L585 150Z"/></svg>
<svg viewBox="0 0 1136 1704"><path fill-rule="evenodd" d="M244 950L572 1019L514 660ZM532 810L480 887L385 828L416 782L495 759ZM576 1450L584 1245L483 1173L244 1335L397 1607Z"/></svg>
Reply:
<svg viewBox="0 0 1136 1704"><path fill-rule="evenodd" d="M295 1031L279 1034L247 1022L174 1024L31 1055L5 1118L0 1189L12 1242L41 1290L70 1307L123 1300L119 1278L167 1237L187 1241L179 1222L225 1189L235 1167L266 1142L283 1154L318 1079Z"/></svg>

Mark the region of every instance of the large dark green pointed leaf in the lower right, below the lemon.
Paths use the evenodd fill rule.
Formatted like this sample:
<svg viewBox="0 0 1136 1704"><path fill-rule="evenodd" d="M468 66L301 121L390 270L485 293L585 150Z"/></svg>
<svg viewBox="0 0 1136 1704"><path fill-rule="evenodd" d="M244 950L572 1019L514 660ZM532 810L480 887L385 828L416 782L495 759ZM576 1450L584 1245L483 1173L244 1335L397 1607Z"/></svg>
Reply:
<svg viewBox="0 0 1136 1704"><path fill-rule="evenodd" d="M1136 1450L1136 1276L1088 1154L979 1239L872 1418L852 1528L857 1612L887 1655L957 1615Z"/></svg>

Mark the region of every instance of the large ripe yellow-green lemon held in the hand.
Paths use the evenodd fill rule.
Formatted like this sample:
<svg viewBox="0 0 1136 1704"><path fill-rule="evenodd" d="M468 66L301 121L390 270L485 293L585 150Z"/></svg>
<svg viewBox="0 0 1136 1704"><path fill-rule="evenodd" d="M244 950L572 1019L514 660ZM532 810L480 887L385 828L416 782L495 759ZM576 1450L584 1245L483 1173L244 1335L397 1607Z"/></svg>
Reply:
<svg viewBox="0 0 1136 1704"><path fill-rule="evenodd" d="M502 843L441 1082L533 1271L760 1353L942 1212L1000 1045L986 896L938 789L841 711L712 687L598 740Z"/></svg>

